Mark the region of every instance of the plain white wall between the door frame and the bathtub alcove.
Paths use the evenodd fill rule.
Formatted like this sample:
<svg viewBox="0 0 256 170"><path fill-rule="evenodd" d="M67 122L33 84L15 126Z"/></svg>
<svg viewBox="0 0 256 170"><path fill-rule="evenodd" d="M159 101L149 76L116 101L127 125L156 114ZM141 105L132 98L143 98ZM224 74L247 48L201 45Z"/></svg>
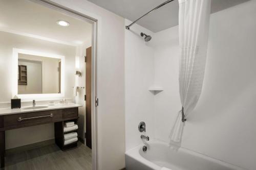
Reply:
<svg viewBox="0 0 256 170"><path fill-rule="evenodd" d="M97 79L98 169L124 167L124 18L85 0L52 0L99 20Z"/></svg>

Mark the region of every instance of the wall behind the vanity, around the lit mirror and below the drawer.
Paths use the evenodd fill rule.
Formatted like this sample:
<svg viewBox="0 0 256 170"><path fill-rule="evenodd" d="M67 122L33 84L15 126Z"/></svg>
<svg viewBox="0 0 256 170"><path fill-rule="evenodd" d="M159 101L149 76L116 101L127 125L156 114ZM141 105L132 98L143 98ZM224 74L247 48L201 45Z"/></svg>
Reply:
<svg viewBox="0 0 256 170"><path fill-rule="evenodd" d="M12 72L13 48L20 48L24 50L65 56L66 98L73 99L76 53L76 48L74 46L58 44L50 41L39 40L5 32L0 32L0 37L0 80L2 82L0 88L0 106L6 106L5 103L9 105L12 98L12 77L10 76L10 74ZM37 104L38 103L39 102L37 102ZM22 103L22 106L25 105L31 106L32 103ZM15 148L25 144L44 141L52 138L54 138L53 124L10 130L6 131L6 149Z"/></svg>

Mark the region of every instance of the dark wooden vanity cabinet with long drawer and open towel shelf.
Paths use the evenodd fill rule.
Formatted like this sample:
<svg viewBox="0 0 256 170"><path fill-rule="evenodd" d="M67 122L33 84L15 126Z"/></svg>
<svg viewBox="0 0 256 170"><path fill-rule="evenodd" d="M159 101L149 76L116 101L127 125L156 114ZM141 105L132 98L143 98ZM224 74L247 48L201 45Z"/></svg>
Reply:
<svg viewBox="0 0 256 170"><path fill-rule="evenodd" d="M0 156L1 167L5 166L5 131L42 124L54 123L55 143L61 150L67 150L77 146L77 142L64 145L63 128L67 121L77 124L78 107L56 110L15 113L0 116ZM77 130L75 130L77 131Z"/></svg>

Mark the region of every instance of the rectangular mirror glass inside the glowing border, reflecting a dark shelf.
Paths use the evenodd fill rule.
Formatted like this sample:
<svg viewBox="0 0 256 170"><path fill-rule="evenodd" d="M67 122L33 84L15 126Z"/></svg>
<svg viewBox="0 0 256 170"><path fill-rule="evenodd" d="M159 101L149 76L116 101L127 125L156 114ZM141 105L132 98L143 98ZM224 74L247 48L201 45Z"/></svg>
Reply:
<svg viewBox="0 0 256 170"><path fill-rule="evenodd" d="M61 59L18 54L18 94L60 93Z"/></svg>

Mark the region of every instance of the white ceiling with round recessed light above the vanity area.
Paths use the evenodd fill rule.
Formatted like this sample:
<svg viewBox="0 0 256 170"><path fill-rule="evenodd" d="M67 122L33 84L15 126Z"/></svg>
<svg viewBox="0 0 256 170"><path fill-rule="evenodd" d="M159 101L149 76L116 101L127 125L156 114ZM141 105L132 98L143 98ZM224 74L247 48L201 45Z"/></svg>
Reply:
<svg viewBox="0 0 256 170"><path fill-rule="evenodd" d="M60 19L70 26L57 25ZM91 39L92 25L28 0L1 0L0 31L78 45Z"/></svg>

